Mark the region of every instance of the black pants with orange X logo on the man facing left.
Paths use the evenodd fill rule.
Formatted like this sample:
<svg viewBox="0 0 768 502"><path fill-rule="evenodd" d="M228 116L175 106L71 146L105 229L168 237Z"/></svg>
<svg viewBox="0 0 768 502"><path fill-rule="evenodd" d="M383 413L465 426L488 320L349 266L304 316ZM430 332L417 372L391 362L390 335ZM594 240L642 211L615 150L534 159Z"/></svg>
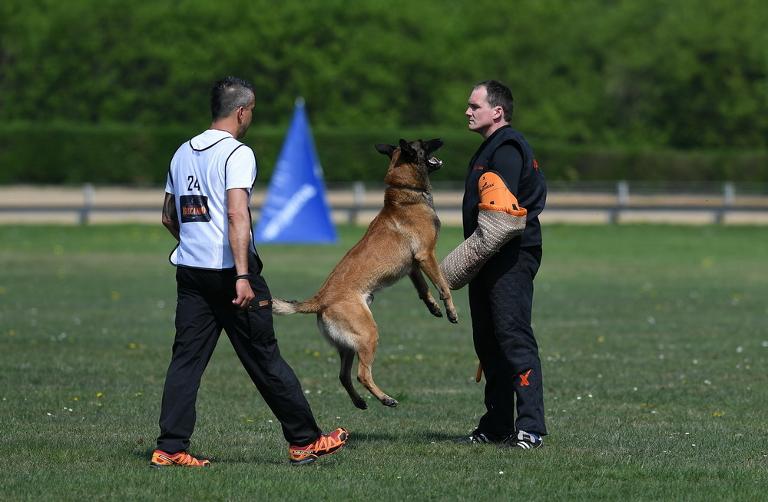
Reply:
<svg viewBox="0 0 768 502"><path fill-rule="evenodd" d="M487 411L478 429L486 434L547 433L539 347L531 328L533 278L540 263L541 247L506 246L469 284L475 351L486 380Z"/></svg>

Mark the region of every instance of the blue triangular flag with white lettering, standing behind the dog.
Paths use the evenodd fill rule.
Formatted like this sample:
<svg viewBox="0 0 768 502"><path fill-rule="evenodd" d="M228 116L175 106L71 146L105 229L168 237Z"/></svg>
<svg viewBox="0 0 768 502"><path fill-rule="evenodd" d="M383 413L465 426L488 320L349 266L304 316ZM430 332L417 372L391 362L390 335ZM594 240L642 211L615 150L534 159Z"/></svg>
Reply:
<svg viewBox="0 0 768 502"><path fill-rule="evenodd" d="M260 243L336 242L336 229L325 198L323 169L301 98L296 100L255 237Z"/></svg>

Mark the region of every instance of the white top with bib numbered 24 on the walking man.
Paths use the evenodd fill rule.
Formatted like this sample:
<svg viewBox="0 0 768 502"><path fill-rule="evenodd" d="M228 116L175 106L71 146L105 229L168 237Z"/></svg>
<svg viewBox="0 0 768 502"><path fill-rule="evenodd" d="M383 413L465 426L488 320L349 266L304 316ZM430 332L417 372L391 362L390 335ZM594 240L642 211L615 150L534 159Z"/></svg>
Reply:
<svg viewBox="0 0 768 502"><path fill-rule="evenodd" d="M245 188L250 199L255 180L253 150L228 132L209 129L181 145L165 184L165 191L176 199L180 226L171 263L212 270L233 268L227 190Z"/></svg>

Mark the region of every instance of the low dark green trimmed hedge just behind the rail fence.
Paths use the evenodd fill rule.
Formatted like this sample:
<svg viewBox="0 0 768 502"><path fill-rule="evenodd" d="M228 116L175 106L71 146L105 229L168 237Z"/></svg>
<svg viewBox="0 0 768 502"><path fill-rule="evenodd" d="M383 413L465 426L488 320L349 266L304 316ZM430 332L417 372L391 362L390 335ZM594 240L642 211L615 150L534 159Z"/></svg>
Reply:
<svg viewBox="0 0 768 502"><path fill-rule="evenodd" d="M196 132L186 127L0 125L0 183L162 184L173 152ZM280 128L254 127L244 139L256 152L261 181L271 176L284 134ZM442 138L445 145L438 155L444 165L434 180L454 182L463 180L481 139L463 128L314 131L328 181L381 181L387 159L373 145L401 137ZM597 149L530 139L552 181L768 182L765 151Z"/></svg>

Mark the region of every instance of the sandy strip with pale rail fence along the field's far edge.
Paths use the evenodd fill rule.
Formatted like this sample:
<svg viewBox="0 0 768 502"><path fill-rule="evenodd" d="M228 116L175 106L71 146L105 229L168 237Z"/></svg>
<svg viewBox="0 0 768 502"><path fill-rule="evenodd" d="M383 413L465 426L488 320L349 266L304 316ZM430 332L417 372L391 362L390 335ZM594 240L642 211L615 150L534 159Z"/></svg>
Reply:
<svg viewBox="0 0 768 502"><path fill-rule="evenodd" d="M367 224L382 206L384 187L363 183L332 184L326 197L337 223ZM263 188L254 191L258 215ZM461 223L461 187L436 185L435 209L444 224ZM0 187L0 224L159 222L161 188ZM550 183L546 222L572 223L718 223L768 224L768 187L688 184L661 186L620 181L615 184Z"/></svg>

